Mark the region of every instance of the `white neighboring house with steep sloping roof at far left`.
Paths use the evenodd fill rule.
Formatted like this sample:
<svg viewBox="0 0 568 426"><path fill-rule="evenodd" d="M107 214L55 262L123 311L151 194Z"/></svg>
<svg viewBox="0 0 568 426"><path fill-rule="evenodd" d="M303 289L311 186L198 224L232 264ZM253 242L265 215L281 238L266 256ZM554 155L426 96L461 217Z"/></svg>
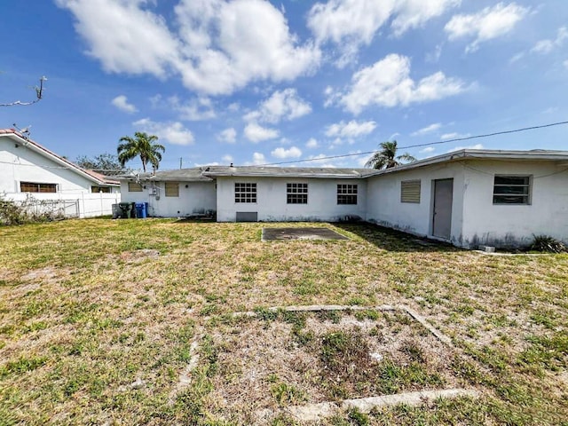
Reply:
<svg viewBox="0 0 568 426"><path fill-rule="evenodd" d="M67 216L110 214L120 182L84 170L13 129L0 129L0 194L14 201L60 201ZM112 201L112 202L111 202Z"/></svg>

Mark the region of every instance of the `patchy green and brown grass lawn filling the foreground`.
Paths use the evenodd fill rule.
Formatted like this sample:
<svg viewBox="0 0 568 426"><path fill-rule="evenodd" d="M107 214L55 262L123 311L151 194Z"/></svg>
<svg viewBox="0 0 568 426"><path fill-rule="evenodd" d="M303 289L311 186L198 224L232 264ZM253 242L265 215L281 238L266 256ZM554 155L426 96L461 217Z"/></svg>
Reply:
<svg viewBox="0 0 568 426"><path fill-rule="evenodd" d="M260 241L263 227L280 226L327 226L350 240ZM412 335L406 319L350 319L375 321L362 336L358 327L334 329L337 318L265 309L292 304L406 304L450 336L454 350L440 367L416 331L401 346L406 358L348 374L342 366L360 361L350 354L367 357L359 349L368 335ZM254 310L255 319L232 315ZM304 369L273 358L280 370L247 385L240 361L258 342L265 351L305 348L297 352ZM343 382L313 368L324 361ZM445 383L480 398L347 412L318 424L566 425L567 364L565 254L424 247L373 225L90 219L0 228L0 425L251 424L258 401L279 413ZM306 390L302 381L311 383ZM301 424L285 411L267 419Z"/></svg>

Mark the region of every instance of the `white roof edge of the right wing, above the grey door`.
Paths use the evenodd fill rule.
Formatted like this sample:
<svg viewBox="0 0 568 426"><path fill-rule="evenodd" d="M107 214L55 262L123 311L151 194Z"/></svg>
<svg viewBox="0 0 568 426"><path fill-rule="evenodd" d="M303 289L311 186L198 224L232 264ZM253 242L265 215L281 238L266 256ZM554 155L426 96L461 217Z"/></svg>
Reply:
<svg viewBox="0 0 568 426"><path fill-rule="evenodd" d="M488 159L488 160L540 160L540 161L568 161L568 151L550 150L496 150L496 149L460 149L447 154L440 154L435 157L425 158L417 162L409 162L391 169L376 170L371 176L393 173L403 170L412 170L418 167L430 166L441 162L451 162L466 159Z"/></svg>

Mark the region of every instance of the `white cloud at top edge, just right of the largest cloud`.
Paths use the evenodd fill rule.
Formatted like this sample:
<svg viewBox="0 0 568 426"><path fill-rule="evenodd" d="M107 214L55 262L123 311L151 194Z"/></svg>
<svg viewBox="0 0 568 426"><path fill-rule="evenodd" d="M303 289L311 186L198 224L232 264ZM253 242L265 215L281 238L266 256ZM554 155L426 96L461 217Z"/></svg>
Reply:
<svg viewBox="0 0 568 426"><path fill-rule="evenodd" d="M339 47L336 65L344 67L388 22L392 34L401 36L459 4L461 0L329 0L312 6L308 27L318 43L333 42Z"/></svg>

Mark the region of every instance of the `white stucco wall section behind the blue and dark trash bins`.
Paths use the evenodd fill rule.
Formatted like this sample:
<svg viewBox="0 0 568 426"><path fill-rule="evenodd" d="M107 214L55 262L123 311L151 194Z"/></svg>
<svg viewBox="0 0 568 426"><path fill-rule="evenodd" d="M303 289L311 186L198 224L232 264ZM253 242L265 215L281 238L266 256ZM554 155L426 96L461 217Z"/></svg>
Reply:
<svg viewBox="0 0 568 426"><path fill-rule="evenodd" d="M148 202L153 217L187 217L217 210L215 182L178 182L179 197L166 197L164 182L143 182L143 191L130 193L128 182L121 182L122 201ZM156 195L150 195L156 189Z"/></svg>

